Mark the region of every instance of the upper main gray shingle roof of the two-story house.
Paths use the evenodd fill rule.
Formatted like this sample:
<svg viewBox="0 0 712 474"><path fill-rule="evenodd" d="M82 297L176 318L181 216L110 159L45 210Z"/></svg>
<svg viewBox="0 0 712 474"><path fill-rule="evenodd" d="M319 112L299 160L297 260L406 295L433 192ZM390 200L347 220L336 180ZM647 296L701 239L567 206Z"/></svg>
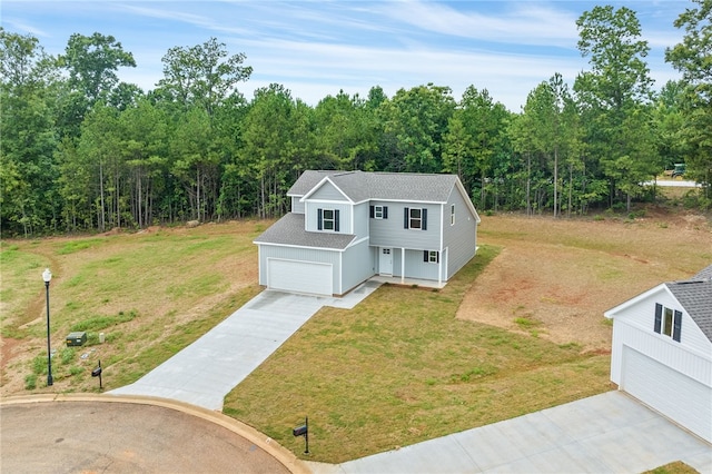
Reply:
<svg viewBox="0 0 712 474"><path fill-rule="evenodd" d="M367 199L446 203L457 180L456 175L309 170L301 174L287 195L304 196L327 176L354 203Z"/></svg>

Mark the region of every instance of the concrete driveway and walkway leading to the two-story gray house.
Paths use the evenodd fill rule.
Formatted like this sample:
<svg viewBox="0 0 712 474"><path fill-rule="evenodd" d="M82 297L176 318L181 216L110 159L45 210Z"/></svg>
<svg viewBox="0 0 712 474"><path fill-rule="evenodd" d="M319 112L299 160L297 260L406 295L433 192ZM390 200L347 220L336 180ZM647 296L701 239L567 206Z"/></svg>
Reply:
<svg viewBox="0 0 712 474"><path fill-rule="evenodd" d="M378 286L367 282L343 298L265 290L134 384L108 393L221 411L225 396L323 306L354 307Z"/></svg>

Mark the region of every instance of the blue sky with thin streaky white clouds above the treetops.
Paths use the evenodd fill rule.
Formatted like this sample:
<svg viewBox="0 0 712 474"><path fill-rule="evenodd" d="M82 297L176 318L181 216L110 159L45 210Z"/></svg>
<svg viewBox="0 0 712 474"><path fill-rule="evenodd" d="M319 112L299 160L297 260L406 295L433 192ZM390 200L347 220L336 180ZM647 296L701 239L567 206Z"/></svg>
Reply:
<svg viewBox="0 0 712 474"><path fill-rule="evenodd" d="M248 100L271 82L312 106L340 89L365 97L380 86L393 97L433 82L451 87L456 100L471 85L487 89L520 111L528 92L555 72L573 83L589 69L576 49L575 22L596 4L637 13L656 87L680 77L664 62L664 50L682 39L672 23L693 7L688 0L3 0L0 21L9 31L37 37L51 55L63 52L72 33L111 34L137 62L120 78L144 90L162 78L169 48L215 37L230 55L244 52L254 68L239 86Z"/></svg>

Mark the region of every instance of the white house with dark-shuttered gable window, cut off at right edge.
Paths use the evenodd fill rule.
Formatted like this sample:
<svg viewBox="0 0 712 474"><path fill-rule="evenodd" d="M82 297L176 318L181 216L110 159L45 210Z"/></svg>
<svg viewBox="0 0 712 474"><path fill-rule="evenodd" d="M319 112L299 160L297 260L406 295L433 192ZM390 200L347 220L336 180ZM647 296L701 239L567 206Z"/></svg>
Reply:
<svg viewBox="0 0 712 474"><path fill-rule="evenodd" d="M712 443L712 265L605 317L613 319L611 381Z"/></svg>

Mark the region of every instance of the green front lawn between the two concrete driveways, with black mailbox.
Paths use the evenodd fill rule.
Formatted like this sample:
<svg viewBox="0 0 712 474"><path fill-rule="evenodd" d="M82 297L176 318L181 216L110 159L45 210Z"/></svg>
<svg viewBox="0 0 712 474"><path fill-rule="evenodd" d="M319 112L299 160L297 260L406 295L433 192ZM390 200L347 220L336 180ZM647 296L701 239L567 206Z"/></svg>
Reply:
<svg viewBox="0 0 712 474"><path fill-rule="evenodd" d="M324 308L225 401L224 412L301 456L340 463L611 388L610 356L455 319L498 254L485 246L442 290L384 286Z"/></svg>

